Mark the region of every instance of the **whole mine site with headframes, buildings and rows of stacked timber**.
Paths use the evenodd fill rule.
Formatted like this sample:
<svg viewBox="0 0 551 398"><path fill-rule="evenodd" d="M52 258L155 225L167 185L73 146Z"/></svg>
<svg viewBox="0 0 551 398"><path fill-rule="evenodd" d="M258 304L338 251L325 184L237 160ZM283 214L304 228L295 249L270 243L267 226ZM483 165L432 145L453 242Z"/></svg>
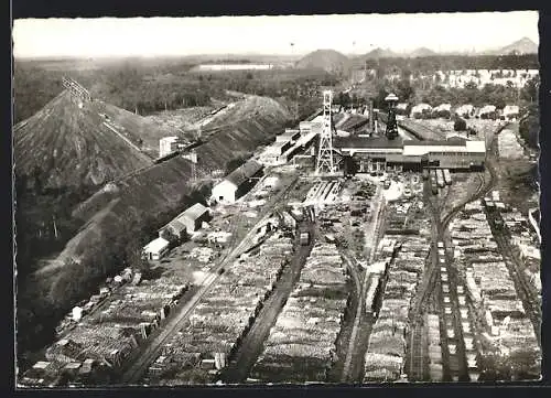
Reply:
<svg viewBox="0 0 551 398"><path fill-rule="evenodd" d="M323 94L159 230L143 252L161 277L109 278L21 383L476 381L508 359L538 375L538 277L518 249L538 235L494 170L509 121L436 140L390 95L343 133Z"/></svg>

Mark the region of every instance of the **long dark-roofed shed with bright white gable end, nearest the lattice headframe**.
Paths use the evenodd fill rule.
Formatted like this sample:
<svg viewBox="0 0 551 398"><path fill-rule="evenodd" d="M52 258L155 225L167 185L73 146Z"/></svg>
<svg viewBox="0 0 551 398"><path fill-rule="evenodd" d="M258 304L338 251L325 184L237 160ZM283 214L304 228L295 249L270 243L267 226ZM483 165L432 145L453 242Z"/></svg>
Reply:
<svg viewBox="0 0 551 398"><path fill-rule="evenodd" d="M249 160L213 187L213 198L217 202L234 203L255 185L255 181L262 174L262 164Z"/></svg>

